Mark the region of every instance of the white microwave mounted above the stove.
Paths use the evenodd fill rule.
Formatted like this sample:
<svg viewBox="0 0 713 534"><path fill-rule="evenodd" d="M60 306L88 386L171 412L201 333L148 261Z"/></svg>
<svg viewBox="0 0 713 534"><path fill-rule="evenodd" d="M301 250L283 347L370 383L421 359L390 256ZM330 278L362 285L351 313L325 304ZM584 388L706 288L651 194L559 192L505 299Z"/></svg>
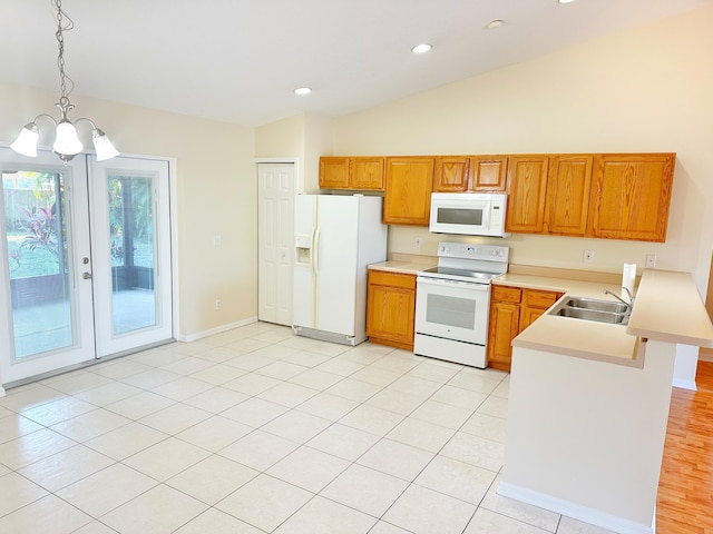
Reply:
<svg viewBox="0 0 713 534"><path fill-rule="evenodd" d="M508 237L505 192L433 192L429 230L434 234Z"/></svg>

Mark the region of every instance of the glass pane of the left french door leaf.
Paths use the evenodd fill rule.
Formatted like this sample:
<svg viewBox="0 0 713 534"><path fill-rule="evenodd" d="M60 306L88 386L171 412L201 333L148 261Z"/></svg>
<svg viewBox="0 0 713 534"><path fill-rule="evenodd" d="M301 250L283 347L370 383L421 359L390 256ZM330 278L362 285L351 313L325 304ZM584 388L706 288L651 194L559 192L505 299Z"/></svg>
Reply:
<svg viewBox="0 0 713 534"><path fill-rule="evenodd" d="M75 344L62 172L3 171L14 360Z"/></svg>

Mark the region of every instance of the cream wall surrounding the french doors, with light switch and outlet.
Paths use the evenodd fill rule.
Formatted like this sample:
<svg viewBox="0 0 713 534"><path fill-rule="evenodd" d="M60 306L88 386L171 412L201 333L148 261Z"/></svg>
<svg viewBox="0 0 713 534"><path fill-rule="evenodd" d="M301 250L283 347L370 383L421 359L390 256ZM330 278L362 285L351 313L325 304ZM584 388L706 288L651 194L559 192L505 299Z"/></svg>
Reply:
<svg viewBox="0 0 713 534"><path fill-rule="evenodd" d="M55 113L57 97L49 91L0 85L0 101L4 102L0 107L0 140L12 141L38 113ZM254 130L80 96L72 96L72 102L77 108L70 118L90 117L120 151L176 158L177 334L193 336L255 317ZM222 236L219 247L213 246L215 235ZM222 308L216 310L218 298Z"/></svg>

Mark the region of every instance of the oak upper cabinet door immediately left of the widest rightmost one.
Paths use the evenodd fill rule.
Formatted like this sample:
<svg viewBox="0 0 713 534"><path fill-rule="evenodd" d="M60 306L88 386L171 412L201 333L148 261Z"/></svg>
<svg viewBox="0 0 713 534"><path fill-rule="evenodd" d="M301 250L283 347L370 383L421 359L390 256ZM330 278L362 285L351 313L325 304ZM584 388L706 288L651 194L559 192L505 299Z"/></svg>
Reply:
<svg viewBox="0 0 713 534"><path fill-rule="evenodd" d="M587 231L594 156L553 156L547 179L546 231L584 236Z"/></svg>

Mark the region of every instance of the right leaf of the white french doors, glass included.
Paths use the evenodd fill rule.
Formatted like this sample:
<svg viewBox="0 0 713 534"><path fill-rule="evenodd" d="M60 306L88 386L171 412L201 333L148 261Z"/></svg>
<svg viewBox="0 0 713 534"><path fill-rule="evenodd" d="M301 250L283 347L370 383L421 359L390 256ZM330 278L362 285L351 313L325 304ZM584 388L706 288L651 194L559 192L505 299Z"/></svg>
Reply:
<svg viewBox="0 0 713 534"><path fill-rule="evenodd" d="M97 357L173 337L168 162L90 158Z"/></svg>

